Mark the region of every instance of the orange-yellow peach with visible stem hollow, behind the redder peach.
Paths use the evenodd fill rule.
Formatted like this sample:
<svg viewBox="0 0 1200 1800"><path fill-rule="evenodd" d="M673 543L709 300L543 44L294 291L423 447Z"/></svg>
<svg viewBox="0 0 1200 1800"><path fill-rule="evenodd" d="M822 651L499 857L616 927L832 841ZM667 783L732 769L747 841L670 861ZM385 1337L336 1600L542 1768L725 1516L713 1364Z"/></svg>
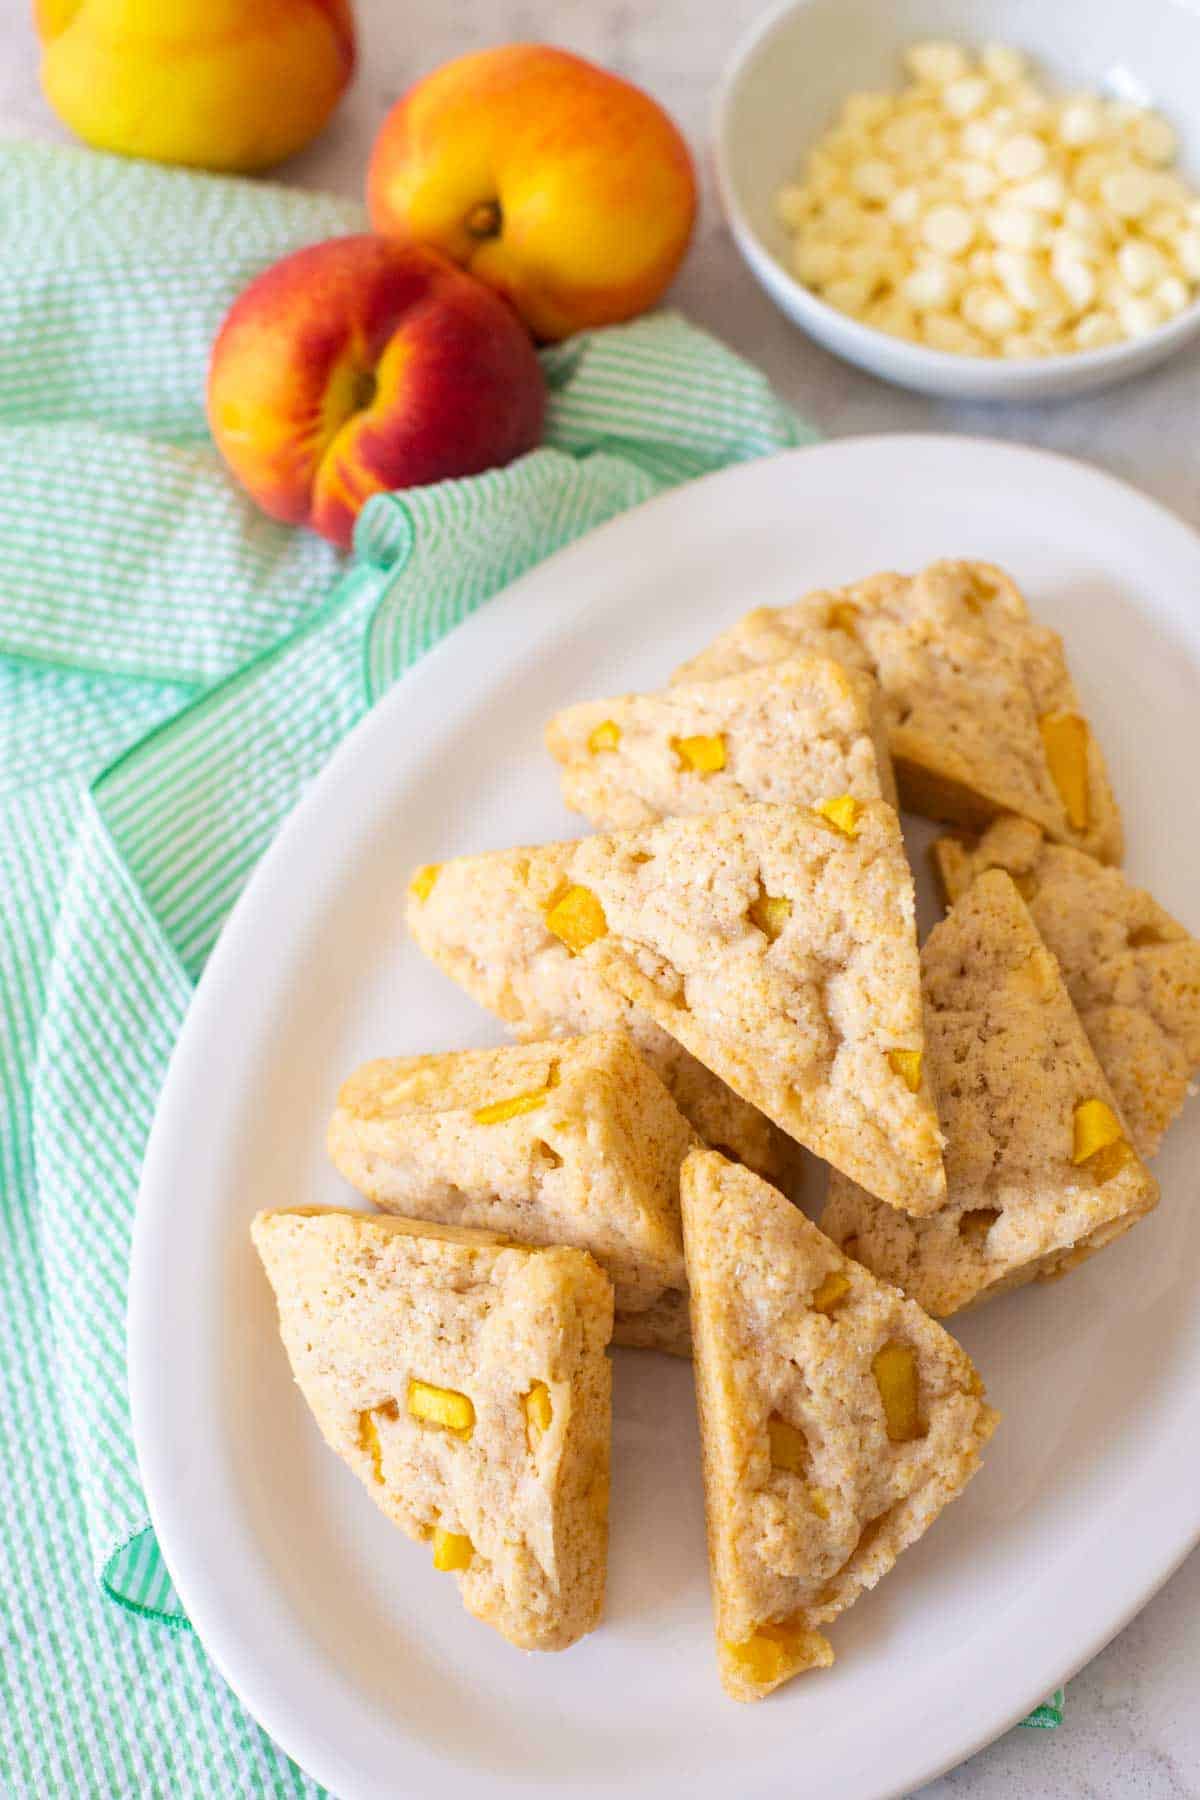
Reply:
<svg viewBox="0 0 1200 1800"><path fill-rule="evenodd" d="M446 63L383 121L371 221L430 243L516 306L540 338L653 306L696 216L687 146L662 108L549 45Z"/></svg>

